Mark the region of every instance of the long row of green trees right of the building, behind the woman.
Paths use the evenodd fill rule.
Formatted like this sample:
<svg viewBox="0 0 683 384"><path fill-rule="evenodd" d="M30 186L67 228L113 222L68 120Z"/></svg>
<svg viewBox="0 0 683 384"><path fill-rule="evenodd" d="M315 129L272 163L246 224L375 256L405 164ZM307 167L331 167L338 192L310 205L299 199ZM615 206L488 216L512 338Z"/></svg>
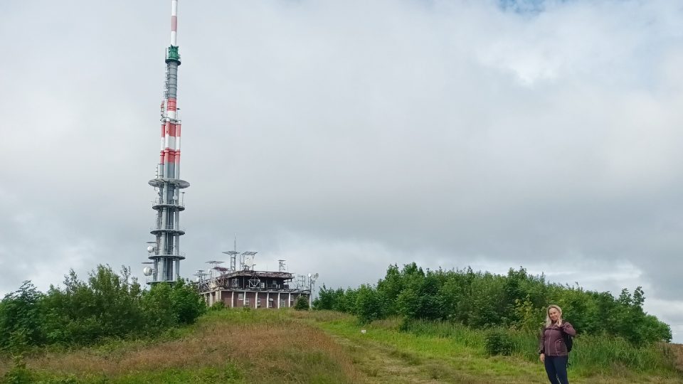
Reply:
<svg viewBox="0 0 683 384"><path fill-rule="evenodd" d="M619 336L633 345L671 341L669 326L647 314L645 293L623 289L618 297L546 282L522 267L507 275L465 270L427 270L415 262L390 265L377 284L319 289L315 309L348 312L362 322L401 316L406 321L452 321L475 329L504 326L539 330L549 304L558 304L580 334Z"/></svg>

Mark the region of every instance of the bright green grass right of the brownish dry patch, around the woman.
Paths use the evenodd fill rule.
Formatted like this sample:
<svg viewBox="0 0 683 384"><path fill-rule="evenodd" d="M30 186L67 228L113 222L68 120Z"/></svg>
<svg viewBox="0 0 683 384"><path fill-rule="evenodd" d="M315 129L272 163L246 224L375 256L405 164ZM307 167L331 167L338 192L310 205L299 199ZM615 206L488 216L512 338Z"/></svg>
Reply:
<svg viewBox="0 0 683 384"><path fill-rule="evenodd" d="M352 316L314 321L331 334L400 351L410 356L404 358L407 364L421 359L432 378L448 375L448 369L455 368L482 382L546 380L534 333L506 331L512 343L511 356L489 356L484 348L487 332L459 324L411 321L402 325L398 319L388 319L362 326ZM366 329L366 334L360 329ZM620 338L582 336L574 342L569 372L577 383L683 383L673 359L665 344L634 348Z"/></svg>

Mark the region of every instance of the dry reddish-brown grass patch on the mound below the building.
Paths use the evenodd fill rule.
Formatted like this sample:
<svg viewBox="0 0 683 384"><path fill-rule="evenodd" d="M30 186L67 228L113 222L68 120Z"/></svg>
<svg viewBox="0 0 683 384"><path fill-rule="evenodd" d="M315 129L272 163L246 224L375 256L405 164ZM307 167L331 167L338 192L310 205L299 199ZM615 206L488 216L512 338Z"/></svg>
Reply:
<svg viewBox="0 0 683 384"><path fill-rule="evenodd" d="M105 375L116 378L134 373L167 369L221 367L232 363L246 375L285 382L305 382L309 374L334 373L356 382L358 373L342 347L323 331L287 320L282 314L258 311L242 316L237 311L208 316L190 334L174 341L149 346L124 343L103 351L88 348L73 353L46 353L26 358L26 366L55 374L78 377ZM253 311L257 312L257 311ZM271 312L271 313L268 313ZM249 321L249 317L254 321ZM6 371L0 369L0 374Z"/></svg>

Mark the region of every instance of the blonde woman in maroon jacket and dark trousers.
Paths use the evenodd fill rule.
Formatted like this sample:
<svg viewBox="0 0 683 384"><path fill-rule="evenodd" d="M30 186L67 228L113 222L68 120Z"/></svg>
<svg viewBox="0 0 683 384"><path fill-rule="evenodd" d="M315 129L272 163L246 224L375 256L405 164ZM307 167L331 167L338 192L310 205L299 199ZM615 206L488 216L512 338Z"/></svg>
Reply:
<svg viewBox="0 0 683 384"><path fill-rule="evenodd" d="M555 304L548 306L546 326L541 331L539 354L541 362L546 366L546 373L552 384L569 384L567 380L567 346L564 334L576 336L571 324L562 321L562 309Z"/></svg>

